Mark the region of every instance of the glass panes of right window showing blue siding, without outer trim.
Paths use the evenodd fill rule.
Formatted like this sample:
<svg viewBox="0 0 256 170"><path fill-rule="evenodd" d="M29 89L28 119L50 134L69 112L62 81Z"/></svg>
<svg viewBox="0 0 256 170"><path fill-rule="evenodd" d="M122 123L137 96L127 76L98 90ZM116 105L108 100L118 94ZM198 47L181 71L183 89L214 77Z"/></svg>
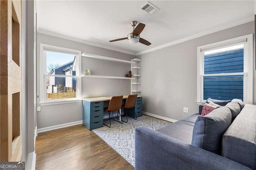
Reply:
<svg viewBox="0 0 256 170"><path fill-rule="evenodd" d="M244 44L204 52L204 100L243 100L243 72Z"/></svg>

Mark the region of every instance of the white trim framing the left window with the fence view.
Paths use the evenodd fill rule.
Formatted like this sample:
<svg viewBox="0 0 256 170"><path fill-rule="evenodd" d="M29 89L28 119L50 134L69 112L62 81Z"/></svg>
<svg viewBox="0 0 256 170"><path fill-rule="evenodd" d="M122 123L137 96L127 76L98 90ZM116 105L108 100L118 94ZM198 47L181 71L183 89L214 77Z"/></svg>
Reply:
<svg viewBox="0 0 256 170"><path fill-rule="evenodd" d="M77 55L77 67L76 70L76 82L77 82L77 89L76 89L76 98L74 99L54 99L47 101L46 100L46 93L44 90L44 87L46 86L46 77L44 74L46 73L46 57L44 53L44 47L56 49L59 51L71 51L74 53L78 53ZM40 43L40 105L56 105L56 104L64 104L64 103L74 103L74 102L80 102L81 96L82 96L82 79L81 79L81 58L82 58L82 51L75 50L75 49L69 49L64 47L58 47L54 45L48 45ZM58 75L58 77L62 77L63 75ZM63 76L63 77L69 77L69 76ZM71 76L74 77L74 76ZM44 94L45 93L45 94Z"/></svg>

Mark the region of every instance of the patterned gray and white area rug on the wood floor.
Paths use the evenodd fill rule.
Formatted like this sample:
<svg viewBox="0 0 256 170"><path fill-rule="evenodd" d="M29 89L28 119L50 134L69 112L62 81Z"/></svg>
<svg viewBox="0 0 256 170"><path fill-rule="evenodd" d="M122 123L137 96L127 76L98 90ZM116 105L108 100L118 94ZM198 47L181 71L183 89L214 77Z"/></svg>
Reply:
<svg viewBox="0 0 256 170"><path fill-rule="evenodd" d="M126 118L124 119L126 121ZM105 121L104 123L108 123ZM92 130L102 140L104 140L110 147L112 147L118 154L120 154L125 160L127 160L133 167L135 166L134 158L134 130L136 127L147 127L153 130L169 125L170 122L157 119L154 117L142 115L137 120L128 118L128 123L118 123L111 121L111 128L101 127Z"/></svg>

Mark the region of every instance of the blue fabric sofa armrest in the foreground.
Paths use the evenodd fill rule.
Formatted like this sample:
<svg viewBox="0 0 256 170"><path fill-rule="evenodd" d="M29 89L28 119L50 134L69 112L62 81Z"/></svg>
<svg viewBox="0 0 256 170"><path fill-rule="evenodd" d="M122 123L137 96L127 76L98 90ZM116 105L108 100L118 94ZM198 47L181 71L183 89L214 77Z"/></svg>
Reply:
<svg viewBox="0 0 256 170"><path fill-rule="evenodd" d="M250 169L242 164L186 144L155 130L135 130L135 169Z"/></svg>

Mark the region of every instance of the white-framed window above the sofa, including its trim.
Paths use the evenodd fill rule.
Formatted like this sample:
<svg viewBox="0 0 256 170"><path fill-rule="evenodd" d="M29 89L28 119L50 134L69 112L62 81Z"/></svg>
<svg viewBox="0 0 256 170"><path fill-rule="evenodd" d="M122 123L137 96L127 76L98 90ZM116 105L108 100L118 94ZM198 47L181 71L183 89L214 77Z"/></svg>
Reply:
<svg viewBox="0 0 256 170"><path fill-rule="evenodd" d="M198 47L197 101L252 103L252 34Z"/></svg>

